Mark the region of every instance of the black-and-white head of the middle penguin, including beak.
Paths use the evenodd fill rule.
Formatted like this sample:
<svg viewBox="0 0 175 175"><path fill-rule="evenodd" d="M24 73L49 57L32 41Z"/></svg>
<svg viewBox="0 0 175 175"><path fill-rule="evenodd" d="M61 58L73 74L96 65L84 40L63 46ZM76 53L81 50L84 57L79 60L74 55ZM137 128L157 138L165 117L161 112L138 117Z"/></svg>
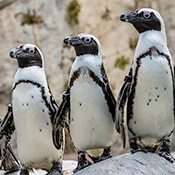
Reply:
<svg viewBox="0 0 175 175"><path fill-rule="evenodd" d="M77 36L67 36L64 39L64 43L73 46L77 56L86 54L101 55L100 42L91 34L82 33Z"/></svg>

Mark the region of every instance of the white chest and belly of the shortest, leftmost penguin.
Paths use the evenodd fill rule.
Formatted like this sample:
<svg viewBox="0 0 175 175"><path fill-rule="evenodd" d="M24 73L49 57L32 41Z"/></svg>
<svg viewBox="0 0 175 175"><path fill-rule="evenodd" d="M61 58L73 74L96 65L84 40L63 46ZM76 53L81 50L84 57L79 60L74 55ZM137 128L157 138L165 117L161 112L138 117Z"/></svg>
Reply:
<svg viewBox="0 0 175 175"><path fill-rule="evenodd" d="M52 125L41 89L30 83L17 85L12 94L17 151L23 164L58 160L52 142Z"/></svg>

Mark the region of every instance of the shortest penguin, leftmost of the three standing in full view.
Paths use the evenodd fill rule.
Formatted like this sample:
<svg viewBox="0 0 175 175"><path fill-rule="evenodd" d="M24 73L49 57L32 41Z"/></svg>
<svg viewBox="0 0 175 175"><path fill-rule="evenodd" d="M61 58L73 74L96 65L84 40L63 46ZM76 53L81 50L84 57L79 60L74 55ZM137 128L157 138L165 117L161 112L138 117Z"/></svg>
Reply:
<svg viewBox="0 0 175 175"><path fill-rule="evenodd" d="M24 167L48 170L48 175L62 174L64 128L59 128L59 147L53 143L56 104L46 79L44 57L33 44L21 44L10 51L18 70L12 86L12 112L17 134L17 152ZM62 137L62 138L61 138ZM57 137L59 138L59 137Z"/></svg>

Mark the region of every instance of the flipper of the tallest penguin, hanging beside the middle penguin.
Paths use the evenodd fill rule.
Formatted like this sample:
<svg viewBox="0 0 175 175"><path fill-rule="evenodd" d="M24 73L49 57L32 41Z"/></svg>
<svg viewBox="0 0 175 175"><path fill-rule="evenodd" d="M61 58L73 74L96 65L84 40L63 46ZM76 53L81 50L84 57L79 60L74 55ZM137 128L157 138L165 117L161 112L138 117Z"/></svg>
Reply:
<svg viewBox="0 0 175 175"><path fill-rule="evenodd" d="M117 105L116 105L116 130L121 134L123 140L123 147L126 145L126 136L125 136L125 128L124 128L124 107L126 101L128 99L130 85L132 82L132 78L130 75L125 76L124 83L120 89Z"/></svg>

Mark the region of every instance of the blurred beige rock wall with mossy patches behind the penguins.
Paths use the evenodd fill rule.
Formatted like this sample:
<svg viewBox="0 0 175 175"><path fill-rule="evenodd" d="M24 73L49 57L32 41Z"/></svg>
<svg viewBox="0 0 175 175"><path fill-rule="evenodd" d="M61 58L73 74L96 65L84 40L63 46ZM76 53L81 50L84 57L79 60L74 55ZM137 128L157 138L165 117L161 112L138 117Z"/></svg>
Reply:
<svg viewBox="0 0 175 175"><path fill-rule="evenodd" d="M4 116L11 101L17 70L9 51L21 43L34 43L41 48L50 88L59 103L75 59L73 48L62 41L67 35L78 33L92 33L99 38L104 66L117 97L138 40L135 29L120 22L119 17L125 11L143 7L154 8L163 16L168 46L174 57L174 0L0 0L0 116ZM74 159L68 136L66 140L65 159ZM113 155L128 152L128 146L123 150L117 134L112 151Z"/></svg>

